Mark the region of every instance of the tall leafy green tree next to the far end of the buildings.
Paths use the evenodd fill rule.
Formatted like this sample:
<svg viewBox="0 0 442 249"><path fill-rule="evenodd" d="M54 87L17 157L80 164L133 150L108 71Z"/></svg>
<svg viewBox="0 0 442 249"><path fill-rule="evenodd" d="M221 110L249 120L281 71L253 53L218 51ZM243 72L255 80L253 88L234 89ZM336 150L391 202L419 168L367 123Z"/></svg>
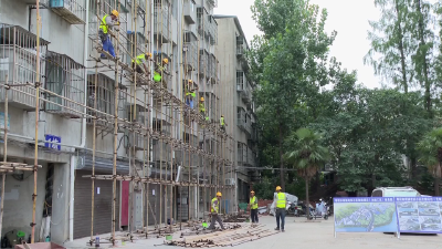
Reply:
<svg viewBox="0 0 442 249"><path fill-rule="evenodd" d="M303 113L303 100L313 100L328 83L328 46L336 32L326 34L326 10L319 12L304 0L255 0L252 12L264 32L255 37L248 54L251 75L260 85L254 97L263 131L261 144L272 152L278 148L281 186L285 188L284 141L303 124L296 115Z"/></svg>

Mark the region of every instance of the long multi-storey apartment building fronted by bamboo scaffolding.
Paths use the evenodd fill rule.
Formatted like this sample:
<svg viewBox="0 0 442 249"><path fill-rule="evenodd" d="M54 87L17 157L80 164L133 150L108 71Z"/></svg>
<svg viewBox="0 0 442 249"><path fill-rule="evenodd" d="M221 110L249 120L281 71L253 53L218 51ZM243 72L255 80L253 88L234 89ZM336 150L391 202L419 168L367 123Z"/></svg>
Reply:
<svg viewBox="0 0 442 249"><path fill-rule="evenodd" d="M238 156L234 141L240 136L245 148L248 136L219 126L221 113L232 107L215 50L217 1L36 2L0 1L1 160L31 169L6 176L1 236L21 230L35 241L48 235L61 243L203 218L219 190L222 209L234 210L233 155L249 158L249 151ZM98 20L112 10L119 12L120 25L110 31L118 60L103 52L98 35ZM140 75L131 62L146 52L152 54L149 74ZM154 83L164 59L168 64ZM239 126L246 133L250 98L238 96ZM244 170L239 174L249 183Z"/></svg>

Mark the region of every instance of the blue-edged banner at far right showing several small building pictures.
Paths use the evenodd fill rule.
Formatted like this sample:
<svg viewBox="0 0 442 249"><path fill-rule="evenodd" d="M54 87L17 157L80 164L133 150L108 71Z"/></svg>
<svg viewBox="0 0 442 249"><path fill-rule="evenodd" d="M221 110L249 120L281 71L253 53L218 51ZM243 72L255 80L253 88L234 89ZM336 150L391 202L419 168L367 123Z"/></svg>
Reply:
<svg viewBox="0 0 442 249"><path fill-rule="evenodd" d="M396 197L399 232L442 234L442 197Z"/></svg>

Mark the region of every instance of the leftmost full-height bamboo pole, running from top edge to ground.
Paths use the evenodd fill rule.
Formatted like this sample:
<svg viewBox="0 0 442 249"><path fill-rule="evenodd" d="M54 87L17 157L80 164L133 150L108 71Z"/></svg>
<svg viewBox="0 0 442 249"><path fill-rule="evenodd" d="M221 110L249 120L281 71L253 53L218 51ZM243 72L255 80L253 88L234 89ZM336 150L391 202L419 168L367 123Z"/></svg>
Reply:
<svg viewBox="0 0 442 249"><path fill-rule="evenodd" d="M32 194L31 243L35 241L36 167L39 164L39 112L40 112L40 0L36 0L36 62L35 62L35 145L34 145L34 189ZM7 125L7 124L4 124Z"/></svg>

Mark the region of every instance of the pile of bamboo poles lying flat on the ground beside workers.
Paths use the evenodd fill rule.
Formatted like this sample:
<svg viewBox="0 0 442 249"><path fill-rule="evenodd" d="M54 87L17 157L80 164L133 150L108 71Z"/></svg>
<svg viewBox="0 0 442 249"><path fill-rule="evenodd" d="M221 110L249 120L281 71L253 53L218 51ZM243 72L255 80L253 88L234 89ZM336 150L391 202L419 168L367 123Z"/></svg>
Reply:
<svg viewBox="0 0 442 249"><path fill-rule="evenodd" d="M244 224L240 228L233 230L189 236L181 239L166 241L166 243L180 247L233 247L275 234L277 234L277 231L269 230L263 225Z"/></svg>

